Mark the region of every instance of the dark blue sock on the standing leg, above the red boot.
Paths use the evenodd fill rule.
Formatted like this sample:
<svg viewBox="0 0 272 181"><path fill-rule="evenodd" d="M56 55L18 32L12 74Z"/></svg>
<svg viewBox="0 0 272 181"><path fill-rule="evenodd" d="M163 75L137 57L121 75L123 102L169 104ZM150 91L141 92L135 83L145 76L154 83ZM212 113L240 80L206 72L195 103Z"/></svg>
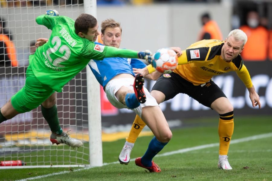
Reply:
<svg viewBox="0 0 272 181"><path fill-rule="evenodd" d="M168 143L168 142L167 142ZM157 153L160 152L164 148L164 146L167 143L162 143L156 139L156 137L153 137L150 141L148 148L144 154L144 156L141 158L141 163L146 167L151 167L152 159L157 155Z"/></svg>

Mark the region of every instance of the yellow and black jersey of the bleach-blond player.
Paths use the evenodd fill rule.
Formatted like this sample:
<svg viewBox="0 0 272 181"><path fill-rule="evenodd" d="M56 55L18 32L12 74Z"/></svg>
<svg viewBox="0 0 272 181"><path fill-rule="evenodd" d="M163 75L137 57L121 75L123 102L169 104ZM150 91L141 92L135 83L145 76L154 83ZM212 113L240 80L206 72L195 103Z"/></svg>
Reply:
<svg viewBox="0 0 272 181"><path fill-rule="evenodd" d="M208 82L215 75L235 71L247 88L252 87L252 82L243 60L238 55L231 62L225 62L221 57L221 40L201 40L186 50L178 58L178 66L173 71L194 85ZM152 65L147 66L149 73L154 72Z"/></svg>

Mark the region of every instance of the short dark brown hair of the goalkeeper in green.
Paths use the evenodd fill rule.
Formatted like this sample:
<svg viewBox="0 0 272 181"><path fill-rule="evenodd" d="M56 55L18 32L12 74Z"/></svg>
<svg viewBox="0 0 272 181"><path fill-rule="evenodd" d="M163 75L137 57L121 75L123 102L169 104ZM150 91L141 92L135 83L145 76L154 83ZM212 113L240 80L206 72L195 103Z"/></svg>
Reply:
<svg viewBox="0 0 272 181"><path fill-rule="evenodd" d="M89 28L93 28L97 25L97 20L92 15L83 13L76 18L75 21L75 32L87 34Z"/></svg>

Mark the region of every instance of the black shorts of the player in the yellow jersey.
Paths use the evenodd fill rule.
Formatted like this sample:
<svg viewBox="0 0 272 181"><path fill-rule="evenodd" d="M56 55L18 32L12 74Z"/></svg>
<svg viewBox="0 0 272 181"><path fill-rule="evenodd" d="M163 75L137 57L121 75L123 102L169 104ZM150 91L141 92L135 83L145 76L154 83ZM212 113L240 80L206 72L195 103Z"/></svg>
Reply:
<svg viewBox="0 0 272 181"><path fill-rule="evenodd" d="M173 72L161 75L152 90L164 93L164 101L172 99L179 93L184 93L209 108L216 99L226 97L224 92L212 80L206 82L205 85L195 86L192 82Z"/></svg>

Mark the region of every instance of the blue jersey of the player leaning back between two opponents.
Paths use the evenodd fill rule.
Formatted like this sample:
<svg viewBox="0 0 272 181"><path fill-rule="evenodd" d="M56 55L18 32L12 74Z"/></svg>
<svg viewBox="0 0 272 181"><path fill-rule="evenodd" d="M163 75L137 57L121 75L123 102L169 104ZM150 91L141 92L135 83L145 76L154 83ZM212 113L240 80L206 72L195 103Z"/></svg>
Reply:
<svg viewBox="0 0 272 181"><path fill-rule="evenodd" d="M110 57L103 60L90 60L89 67L101 86L105 86L113 77L121 73L135 76L132 68L146 67L141 60L131 58Z"/></svg>

